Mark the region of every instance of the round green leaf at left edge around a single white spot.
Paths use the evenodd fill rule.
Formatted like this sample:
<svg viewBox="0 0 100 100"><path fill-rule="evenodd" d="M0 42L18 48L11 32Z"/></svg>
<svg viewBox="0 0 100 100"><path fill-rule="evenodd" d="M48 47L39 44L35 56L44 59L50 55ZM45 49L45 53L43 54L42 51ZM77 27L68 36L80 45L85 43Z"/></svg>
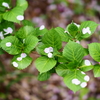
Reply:
<svg viewBox="0 0 100 100"><path fill-rule="evenodd" d="M11 46L7 47L7 43L11 43ZM21 52L22 43L15 36L8 36L1 41L1 47L9 54L16 55Z"/></svg>

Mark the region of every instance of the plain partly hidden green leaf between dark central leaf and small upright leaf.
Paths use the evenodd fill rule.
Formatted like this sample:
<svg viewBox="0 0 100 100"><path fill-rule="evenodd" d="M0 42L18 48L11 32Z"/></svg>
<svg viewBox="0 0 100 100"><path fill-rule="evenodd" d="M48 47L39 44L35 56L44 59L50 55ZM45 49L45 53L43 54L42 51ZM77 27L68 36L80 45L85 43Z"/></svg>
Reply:
<svg viewBox="0 0 100 100"><path fill-rule="evenodd" d="M62 41L68 42L69 36L67 35L67 33L64 32L65 30L63 28L56 27L55 30L59 33Z"/></svg>

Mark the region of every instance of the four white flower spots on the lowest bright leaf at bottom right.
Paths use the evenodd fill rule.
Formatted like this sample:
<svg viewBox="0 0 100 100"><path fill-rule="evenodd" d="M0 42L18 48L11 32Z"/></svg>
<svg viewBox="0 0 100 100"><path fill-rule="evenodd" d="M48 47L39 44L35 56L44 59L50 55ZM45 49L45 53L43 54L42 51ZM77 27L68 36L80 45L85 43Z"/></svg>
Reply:
<svg viewBox="0 0 100 100"><path fill-rule="evenodd" d="M84 72L81 72L82 74L85 74ZM88 75L84 76L84 81L89 81L90 80L90 77ZM87 83L86 82L81 82L80 80L78 80L77 78L75 79L72 79L72 83L75 84L75 85L80 85L82 88L86 87L87 86Z"/></svg>

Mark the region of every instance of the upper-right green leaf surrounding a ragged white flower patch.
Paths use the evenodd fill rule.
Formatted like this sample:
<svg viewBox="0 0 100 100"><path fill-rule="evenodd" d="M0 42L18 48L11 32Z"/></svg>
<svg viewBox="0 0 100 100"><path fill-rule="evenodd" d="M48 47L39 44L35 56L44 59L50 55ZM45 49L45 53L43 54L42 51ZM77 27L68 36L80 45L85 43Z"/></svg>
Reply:
<svg viewBox="0 0 100 100"><path fill-rule="evenodd" d="M79 38L80 39L88 38L89 36L91 36L94 33L97 26L98 26L98 24L93 21L84 21L79 27L79 32L80 32ZM87 27L90 28L91 34L89 34L89 33L83 34L82 33L83 28L87 28Z"/></svg>

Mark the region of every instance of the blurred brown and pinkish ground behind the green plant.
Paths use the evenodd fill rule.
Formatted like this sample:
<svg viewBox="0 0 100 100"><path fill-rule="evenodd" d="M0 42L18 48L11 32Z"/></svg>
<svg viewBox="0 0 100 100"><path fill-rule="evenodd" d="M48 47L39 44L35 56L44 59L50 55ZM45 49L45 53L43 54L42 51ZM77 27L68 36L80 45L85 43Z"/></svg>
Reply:
<svg viewBox="0 0 100 100"><path fill-rule="evenodd" d="M16 0L12 0L15 5ZM45 25L46 28L66 26L74 21L80 24L92 20L100 24L100 0L27 0L29 7L25 11L25 19L33 22L34 27ZM16 28L19 28L16 25ZM81 44L100 42L100 27ZM9 54L0 55L0 100L100 100L100 78L94 78L89 71L90 81L85 89L75 94L69 90L57 74L48 81L37 80L38 71L34 60L39 57L36 52L30 56L33 63L24 70L17 70L11 65ZM93 61L89 56L87 59Z"/></svg>

